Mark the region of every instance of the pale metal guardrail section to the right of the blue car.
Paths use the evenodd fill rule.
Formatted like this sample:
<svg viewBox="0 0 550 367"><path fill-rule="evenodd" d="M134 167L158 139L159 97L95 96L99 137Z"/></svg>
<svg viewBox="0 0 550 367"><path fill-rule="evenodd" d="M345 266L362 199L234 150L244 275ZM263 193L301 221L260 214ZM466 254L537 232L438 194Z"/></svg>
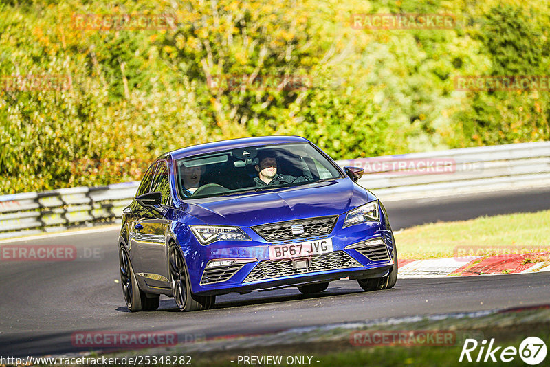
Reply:
<svg viewBox="0 0 550 367"><path fill-rule="evenodd" d="M385 200L550 186L550 142L482 146L338 161Z"/></svg>

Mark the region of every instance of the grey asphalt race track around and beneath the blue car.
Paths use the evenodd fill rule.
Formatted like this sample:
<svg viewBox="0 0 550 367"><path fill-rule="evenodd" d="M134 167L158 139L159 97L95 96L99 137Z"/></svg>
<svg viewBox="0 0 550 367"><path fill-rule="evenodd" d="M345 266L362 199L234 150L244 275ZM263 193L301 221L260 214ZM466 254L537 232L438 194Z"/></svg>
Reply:
<svg viewBox="0 0 550 367"><path fill-rule="evenodd" d="M550 209L550 188L386 203L394 230L421 223ZM401 279L388 291L363 292L355 281L331 283L318 296L297 289L230 294L209 311L180 313L162 296L159 310L129 313L118 274L118 230L20 241L75 245L75 261L0 262L0 355L73 353L85 331L172 331L206 337L265 333L297 326L410 315L550 304L548 275ZM87 253L85 253L87 249ZM79 255L79 256L80 256Z"/></svg>

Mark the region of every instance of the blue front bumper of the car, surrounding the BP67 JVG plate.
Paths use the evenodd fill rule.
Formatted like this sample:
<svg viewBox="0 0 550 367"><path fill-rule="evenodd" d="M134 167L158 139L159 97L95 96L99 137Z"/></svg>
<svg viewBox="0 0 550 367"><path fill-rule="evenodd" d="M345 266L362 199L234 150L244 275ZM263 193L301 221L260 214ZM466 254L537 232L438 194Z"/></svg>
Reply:
<svg viewBox="0 0 550 367"><path fill-rule="evenodd" d="M184 243L195 243L182 249L188 264L192 292L203 296L230 292L247 293L314 282L331 282L345 277L377 278L388 274L393 265L395 245L384 214L378 223L362 223L343 228L342 221L343 216L340 216L333 231L325 236L284 241L294 243L331 238L333 252L303 257L308 258L307 269L295 269L296 258L270 260L269 246L281 242L267 242L248 227L241 229L252 241L217 241L203 246L191 235ZM365 245L369 241L379 245L371 248ZM244 261L226 267L206 267L209 261L221 259Z"/></svg>

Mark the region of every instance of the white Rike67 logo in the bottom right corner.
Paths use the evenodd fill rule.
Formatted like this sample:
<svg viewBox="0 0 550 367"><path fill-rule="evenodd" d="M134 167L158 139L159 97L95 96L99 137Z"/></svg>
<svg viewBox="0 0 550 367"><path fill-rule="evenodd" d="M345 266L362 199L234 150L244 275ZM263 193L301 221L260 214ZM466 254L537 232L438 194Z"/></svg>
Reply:
<svg viewBox="0 0 550 367"><path fill-rule="evenodd" d="M479 351L476 353L476 349ZM502 349L502 350L501 350ZM482 340L481 345L475 339L467 339L462 347L459 362L511 362L517 356L526 364L535 366L542 363L547 355L546 344L538 337L527 337L520 344L519 349L514 346L507 346L503 349L502 346L494 347L494 339L491 339L489 345L487 340ZM473 356L473 357L472 357Z"/></svg>

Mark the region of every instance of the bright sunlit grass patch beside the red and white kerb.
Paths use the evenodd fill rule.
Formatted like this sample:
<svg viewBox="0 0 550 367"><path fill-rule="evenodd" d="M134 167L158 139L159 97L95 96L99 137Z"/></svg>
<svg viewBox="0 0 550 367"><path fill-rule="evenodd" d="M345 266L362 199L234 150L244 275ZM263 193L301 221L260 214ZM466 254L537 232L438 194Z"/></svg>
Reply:
<svg viewBox="0 0 550 367"><path fill-rule="evenodd" d="M413 259L453 257L470 247L492 247L483 251L487 255L550 251L550 210L430 223L398 232L395 241L399 257Z"/></svg>

